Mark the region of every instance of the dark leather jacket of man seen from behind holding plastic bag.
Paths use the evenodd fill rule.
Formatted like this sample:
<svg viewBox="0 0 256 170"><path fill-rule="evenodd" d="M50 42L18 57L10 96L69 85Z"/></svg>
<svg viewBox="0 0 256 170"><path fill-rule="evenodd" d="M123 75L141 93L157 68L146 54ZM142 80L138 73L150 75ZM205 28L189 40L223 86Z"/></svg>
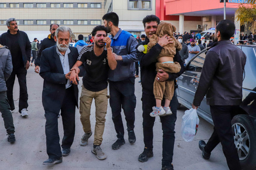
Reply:
<svg viewBox="0 0 256 170"><path fill-rule="evenodd" d="M206 53L193 104L240 105L246 55L230 40L218 41Z"/></svg>

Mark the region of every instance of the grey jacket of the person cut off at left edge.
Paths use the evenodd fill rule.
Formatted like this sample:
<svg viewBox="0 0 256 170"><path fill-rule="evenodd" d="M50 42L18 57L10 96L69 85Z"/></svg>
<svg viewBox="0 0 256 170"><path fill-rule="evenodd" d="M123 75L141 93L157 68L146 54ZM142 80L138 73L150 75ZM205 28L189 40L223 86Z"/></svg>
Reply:
<svg viewBox="0 0 256 170"><path fill-rule="evenodd" d="M5 81L12 71L11 52L6 46L0 45L0 92L7 91Z"/></svg>

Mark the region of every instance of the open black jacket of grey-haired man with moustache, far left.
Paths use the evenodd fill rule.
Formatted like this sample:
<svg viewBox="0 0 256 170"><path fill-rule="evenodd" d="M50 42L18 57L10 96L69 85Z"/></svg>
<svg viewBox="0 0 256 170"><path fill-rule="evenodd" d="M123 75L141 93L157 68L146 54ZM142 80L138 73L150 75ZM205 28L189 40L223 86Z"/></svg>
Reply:
<svg viewBox="0 0 256 170"><path fill-rule="evenodd" d="M26 67L27 61L30 62L31 58L31 44L28 38L28 35L23 32L18 30L18 43L19 47L21 48L21 53L22 53L22 59L23 59L23 64L24 67ZM8 49L11 51L11 33L10 30L7 30L7 32L3 33L0 35L0 44L3 46L7 46Z"/></svg>

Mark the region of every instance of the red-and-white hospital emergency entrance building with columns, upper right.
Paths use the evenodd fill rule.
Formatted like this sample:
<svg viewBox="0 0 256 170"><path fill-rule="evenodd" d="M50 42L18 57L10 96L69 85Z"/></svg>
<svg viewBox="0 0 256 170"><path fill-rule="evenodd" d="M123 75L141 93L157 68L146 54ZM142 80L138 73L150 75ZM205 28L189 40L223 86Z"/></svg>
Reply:
<svg viewBox="0 0 256 170"><path fill-rule="evenodd" d="M220 0L156 0L156 4L156 15L160 20L172 22L180 33L215 28L224 19L224 3ZM238 41L240 33L255 32L255 24L249 30L235 19L239 5L246 5L246 0L226 2L226 19L236 25L235 41Z"/></svg>

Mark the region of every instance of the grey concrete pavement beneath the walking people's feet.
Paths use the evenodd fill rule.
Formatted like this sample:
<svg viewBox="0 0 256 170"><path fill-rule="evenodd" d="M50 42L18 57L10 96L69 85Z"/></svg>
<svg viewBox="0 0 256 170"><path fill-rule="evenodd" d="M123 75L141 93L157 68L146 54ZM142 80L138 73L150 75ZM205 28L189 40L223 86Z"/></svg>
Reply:
<svg viewBox="0 0 256 170"><path fill-rule="evenodd" d="M82 79L82 78L81 78ZM87 146L80 146L79 141L83 135L82 125L79 119L79 111L76 109L76 133L74 143L69 156L63 157L63 162L51 167L42 165L48 159L45 143L45 119L42 106L42 85L43 79L30 67L27 74L27 87L29 95L29 107L27 118L22 118L18 113L19 86L16 78L13 90L15 100L15 111L13 113L16 142L7 142L6 130L3 119L0 119L0 170L160 170L162 159L162 129L159 117L154 125L154 157L147 162L139 162L138 156L143 152L143 129L142 129L142 103L140 78L136 78L135 93L137 104L135 109L135 134L136 143L131 145L128 135L125 133L126 144L118 150L113 150L111 145L115 142L116 133L112 122L110 106L108 106L103 143L101 148L107 154L107 159L98 160L91 153L93 146L93 135L89 138ZM81 92L81 80L79 95ZM54 106L53 106L54 107ZM204 160L198 148L199 140L208 140L213 131L213 126L202 118L194 140L186 142L180 134L181 118L186 108L183 106L177 111L175 126L176 139L174 146L173 164L175 170L227 170L227 163L222 153L221 145L218 145L212 152L209 160ZM122 113L123 124L126 129L124 114ZM62 119L58 119L60 138L63 137ZM95 125L95 105L91 109L92 130Z"/></svg>

